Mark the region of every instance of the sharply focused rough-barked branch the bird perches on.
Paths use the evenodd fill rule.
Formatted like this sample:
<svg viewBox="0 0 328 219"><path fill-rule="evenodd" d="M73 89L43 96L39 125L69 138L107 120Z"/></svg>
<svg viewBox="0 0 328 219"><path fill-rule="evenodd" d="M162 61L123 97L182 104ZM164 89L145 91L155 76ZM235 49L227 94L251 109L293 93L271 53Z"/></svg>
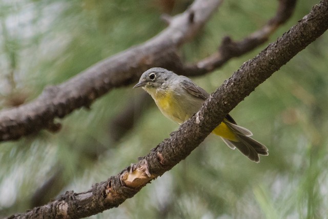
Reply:
<svg viewBox="0 0 328 219"><path fill-rule="evenodd" d="M328 0L321 0L297 25L244 63L190 120L137 164L94 184L89 191L66 192L45 206L9 218L80 218L117 207L185 159L243 98L327 29Z"/></svg>

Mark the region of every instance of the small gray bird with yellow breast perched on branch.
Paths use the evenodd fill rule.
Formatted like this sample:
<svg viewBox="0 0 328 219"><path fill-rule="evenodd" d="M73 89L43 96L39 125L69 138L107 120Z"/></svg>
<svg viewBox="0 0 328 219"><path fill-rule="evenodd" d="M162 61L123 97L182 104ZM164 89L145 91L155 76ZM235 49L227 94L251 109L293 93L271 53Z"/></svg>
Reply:
<svg viewBox="0 0 328 219"><path fill-rule="evenodd" d="M198 112L210 96L190 78L159 67L142 73L133 88L137 87L149 93L162 114L179 125ZM259 155L269 155L268 148L251 138L252 132L238 126L230 114L224 117L212 133L220 136L231 149L237 148L255 163L260 162Z"/></svg>

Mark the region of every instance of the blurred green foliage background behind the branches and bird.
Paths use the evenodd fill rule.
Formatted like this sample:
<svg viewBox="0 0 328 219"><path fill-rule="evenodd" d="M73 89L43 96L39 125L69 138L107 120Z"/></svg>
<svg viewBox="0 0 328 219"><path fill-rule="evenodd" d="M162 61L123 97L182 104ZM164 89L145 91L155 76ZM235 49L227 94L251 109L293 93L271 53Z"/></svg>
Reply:
<svg viewBox="0 0 328 219"><path fill-rule="evenodd" d="M176 2L174 4L174 2ZM1 0L0 106L17 106L103 58L165 28L163 13L191 1ZM319 1L300 0L274 42ZM213 53L226 35L239 40L272 17L278 2L225 1L181 55ZM194 81L208 92L268 44ZM210 135L185 161L116 209L91 218L326 218L328 215L328 34L274 73L232 112L267 145L260 164ZM139 105L142 89L109 92L74 111L59 133L41 131L0 144L0 217L43 205L67 190L86 191L144 156L177 125L152 101L136 107L135 126L117 136L117 117ZM143 110L143 111L139 111ZM137 118L137 115L140 115Z"/></svg>

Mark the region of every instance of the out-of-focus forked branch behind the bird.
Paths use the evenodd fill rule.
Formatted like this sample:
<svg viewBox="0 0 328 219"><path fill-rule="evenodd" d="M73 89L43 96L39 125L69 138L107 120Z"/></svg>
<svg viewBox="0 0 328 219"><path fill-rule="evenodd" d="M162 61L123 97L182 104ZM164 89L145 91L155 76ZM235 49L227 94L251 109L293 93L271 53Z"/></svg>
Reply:
<svg viewBox="0 0 328 219"><path fill-rule="evenodd" d="M275 18L270 20L264 30L254 33L250 40L235 43L226 38L218 53L196 65L184 66L177 49L201 30L222 1L195 0L185 12L168 18L168 28L144 44L100 61L62 84L47 87L30 103L0 111L0 141L15 140L45 128L58 131L60 124L54 123L56 117L62 118L75 109L89 107L96 98L111 89L137 81L140 74L150 67L160 66L181 74L188 72L189 75L209 72L237 56L234 51L237 47L245 48L249 42L258 42L252 43L251 48L239 49L237 54L241 55L263 43L270 34L270 31L264 30L274 30L284 22L294 10L296 2L280 0ZM227 53L229 50L234 51L233 55Z"/></svg>

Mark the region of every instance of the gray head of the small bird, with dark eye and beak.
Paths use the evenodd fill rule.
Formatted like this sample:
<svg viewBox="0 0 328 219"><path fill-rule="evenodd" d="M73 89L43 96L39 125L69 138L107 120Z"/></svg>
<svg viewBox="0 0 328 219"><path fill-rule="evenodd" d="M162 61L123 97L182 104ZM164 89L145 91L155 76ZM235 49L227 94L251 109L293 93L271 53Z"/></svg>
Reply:
<svg viewBox="0 0 328 219"><path fill-rule="evenodd" d="M174 75L176 74L172 71L166 70L165 68L151 68L142 73L138 84L136 84L133 88L158 88Z"/></svg>

